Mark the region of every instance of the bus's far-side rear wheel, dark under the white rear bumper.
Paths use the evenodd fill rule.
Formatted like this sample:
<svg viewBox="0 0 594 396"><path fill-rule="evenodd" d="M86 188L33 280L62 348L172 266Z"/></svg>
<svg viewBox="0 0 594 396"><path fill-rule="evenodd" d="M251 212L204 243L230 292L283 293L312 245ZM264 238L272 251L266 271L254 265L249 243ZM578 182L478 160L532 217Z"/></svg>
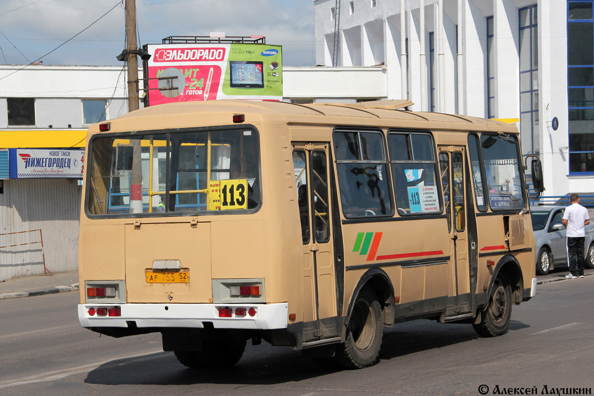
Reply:
<svg viewBox="0 0 594 396"><path fill-rule="evenodd" d="M204 340L201 351L175 351L174 353L179 363L191 369L225 368L239 362L244 350L245 340L229 343Z"/></svg>

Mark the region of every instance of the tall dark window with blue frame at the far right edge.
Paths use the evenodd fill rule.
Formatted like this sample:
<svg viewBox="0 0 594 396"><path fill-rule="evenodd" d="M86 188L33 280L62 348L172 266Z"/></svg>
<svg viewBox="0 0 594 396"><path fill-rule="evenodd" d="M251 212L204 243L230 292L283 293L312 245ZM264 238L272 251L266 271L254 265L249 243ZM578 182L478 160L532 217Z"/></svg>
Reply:
<svg viewBox="0 0 594 396"><path fill-rule="evenodd" d="M594 172L593 3L567 2L569 173Z"/></svg>

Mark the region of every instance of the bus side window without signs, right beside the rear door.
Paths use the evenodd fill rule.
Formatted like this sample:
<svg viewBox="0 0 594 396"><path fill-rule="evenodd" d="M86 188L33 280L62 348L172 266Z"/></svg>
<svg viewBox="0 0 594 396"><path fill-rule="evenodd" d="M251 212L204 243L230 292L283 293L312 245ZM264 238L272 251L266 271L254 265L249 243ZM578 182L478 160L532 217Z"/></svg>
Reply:
<svg viewBox="0 0 594 396"><path fill-rule="evenodd" d="M345 217L390 216L386 150L380 132L334 132L340 200Z"/></svg>

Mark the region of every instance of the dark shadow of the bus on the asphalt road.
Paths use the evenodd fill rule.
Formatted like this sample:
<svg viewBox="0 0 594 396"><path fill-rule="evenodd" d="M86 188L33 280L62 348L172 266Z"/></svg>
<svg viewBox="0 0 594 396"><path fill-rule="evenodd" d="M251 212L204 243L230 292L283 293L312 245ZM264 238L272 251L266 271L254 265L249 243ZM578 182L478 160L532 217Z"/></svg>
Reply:
<svg viewBox="0 0 594 396"><path fill-rule="evenodd" d="M511 321L509 331L529 328ZM505 335L503 335L505 337ZM469 324L415 321L384 328L380 360L440 350L481 339ZM485 339L486 340L486 339ZM491 339L492 340L492 339ZM381 366L380 362L380 366ZM225 369L188 369L171 352L112 360L91 370L84 380L97 385L274 385L334 375L339 368L320 368L290 347L247 346L237 365ZM346 370L348 373L348 370Z"/></svg>

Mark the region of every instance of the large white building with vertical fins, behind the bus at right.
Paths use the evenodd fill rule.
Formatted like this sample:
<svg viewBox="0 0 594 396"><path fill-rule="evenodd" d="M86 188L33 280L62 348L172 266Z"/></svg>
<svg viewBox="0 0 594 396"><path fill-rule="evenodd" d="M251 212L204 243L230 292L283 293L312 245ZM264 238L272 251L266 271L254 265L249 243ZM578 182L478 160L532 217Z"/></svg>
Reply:
<svg viewBox="0 0 594 396"><path fill-rule="evenodd" d="M384 65L387 99L413 110L517 121L546 195L594 191L593 1L314 5L317 64Z"/></svg>

